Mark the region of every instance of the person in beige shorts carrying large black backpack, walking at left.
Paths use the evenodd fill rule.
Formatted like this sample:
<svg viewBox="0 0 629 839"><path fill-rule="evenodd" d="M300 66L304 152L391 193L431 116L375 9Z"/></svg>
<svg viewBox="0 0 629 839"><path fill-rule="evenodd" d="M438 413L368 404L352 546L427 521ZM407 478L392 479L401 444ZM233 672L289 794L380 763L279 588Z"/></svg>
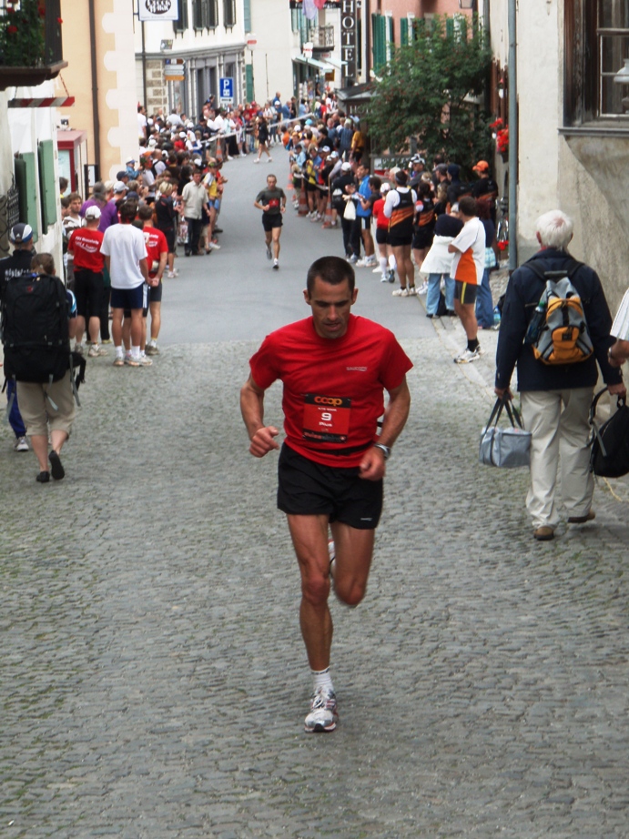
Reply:
<svg viewBox="0 0 629 839"><path fill-rule="evenodd" d="M5 375L17 385L26 433L39 463L36 480L48 483L51 474L55 480L66 474L59 455L76 416L70 350L76 298L55 276L50 254L36 254L31 268L30 274L11 279L3 294Z"/></svg>

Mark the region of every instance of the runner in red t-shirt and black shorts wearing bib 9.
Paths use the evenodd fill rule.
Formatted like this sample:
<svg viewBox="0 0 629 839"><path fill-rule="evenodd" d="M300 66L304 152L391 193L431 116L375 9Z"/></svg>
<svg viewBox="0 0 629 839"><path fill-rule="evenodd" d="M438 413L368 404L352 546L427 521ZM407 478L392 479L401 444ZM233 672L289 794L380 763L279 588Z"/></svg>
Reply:
<svg viewBox="0 0 629 839"><path fill-rule="evenodd" d="M338 721L330 677L330 568L340 601L358 605L380 520L385 460L411 404L411 361L389 329L351 315L357 295L345 259L314 262L304 291L312 317L264 339L240 393L249 451L262 458L279 449L279 430L264 424L264 392L276 379L283 384L278 507L287 514L301 572L299 621L314 680L309 733L332 731Z"/></svg>

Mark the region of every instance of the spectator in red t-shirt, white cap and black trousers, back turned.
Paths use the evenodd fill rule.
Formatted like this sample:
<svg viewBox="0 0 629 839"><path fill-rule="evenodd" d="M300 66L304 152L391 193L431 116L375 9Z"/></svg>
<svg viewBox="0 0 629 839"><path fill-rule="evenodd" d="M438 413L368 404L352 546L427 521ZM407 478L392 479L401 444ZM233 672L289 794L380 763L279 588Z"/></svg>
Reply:
<svg viewBox="0 0 629 839"><path fill-rule="evenodd" d="M83 333L87 329L92 342L87 353L90 358L107 355L107 349L98 346L101 298L105 294L105 257L100 252L104 234L98 229L100 215L100 208L96 205L87 207L86 226L73 230L67 243L67 251L74 256L75 263L75 297L78 312L75 349L83 352Z"/></svg>

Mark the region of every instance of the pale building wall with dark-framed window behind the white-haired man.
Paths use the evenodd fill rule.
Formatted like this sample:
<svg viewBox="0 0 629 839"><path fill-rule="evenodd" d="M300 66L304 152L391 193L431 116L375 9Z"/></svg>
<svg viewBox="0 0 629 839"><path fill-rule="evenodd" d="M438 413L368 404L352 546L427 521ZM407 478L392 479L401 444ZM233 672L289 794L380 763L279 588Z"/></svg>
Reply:
<svg viewBox="0 0 629 839"><path fill-rule="evenodd" d="M507 3L489 11L492 49L506 66ZM629 260L627 45L621 0L518 5L519 262L537 249L535 219L560 207L574 219L574 257L598 271L611 306L626 290Z"/></svg>

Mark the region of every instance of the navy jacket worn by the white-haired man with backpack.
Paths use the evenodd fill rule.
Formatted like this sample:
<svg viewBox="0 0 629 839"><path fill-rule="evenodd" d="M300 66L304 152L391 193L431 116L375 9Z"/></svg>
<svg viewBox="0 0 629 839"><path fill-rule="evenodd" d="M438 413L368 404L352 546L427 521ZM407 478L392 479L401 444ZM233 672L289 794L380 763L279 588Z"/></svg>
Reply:
<svg viewBox="0 0 629 839"><path fill-rule="evenodd" d="M536 262L545 271L565 268L572 259L564 250L546 248L536 253L529 262ZM535 359L533 349L524 344L524 335L533 317L533 311L545 288L543 279L526 268L525 262L513 271L507 286L502 320L496 350L496 387L508 388L513 368L518 368L518 390L563 390L593 387L598 379L598 361L605 384L618 384L623 377L619 369L607 360L607 350L614 343L609 331L612 316L607 306L601 280L592 268L583 265L571 278L574 288L581 295L583 312L593 354L576 364L549 366Z"/></svg>

